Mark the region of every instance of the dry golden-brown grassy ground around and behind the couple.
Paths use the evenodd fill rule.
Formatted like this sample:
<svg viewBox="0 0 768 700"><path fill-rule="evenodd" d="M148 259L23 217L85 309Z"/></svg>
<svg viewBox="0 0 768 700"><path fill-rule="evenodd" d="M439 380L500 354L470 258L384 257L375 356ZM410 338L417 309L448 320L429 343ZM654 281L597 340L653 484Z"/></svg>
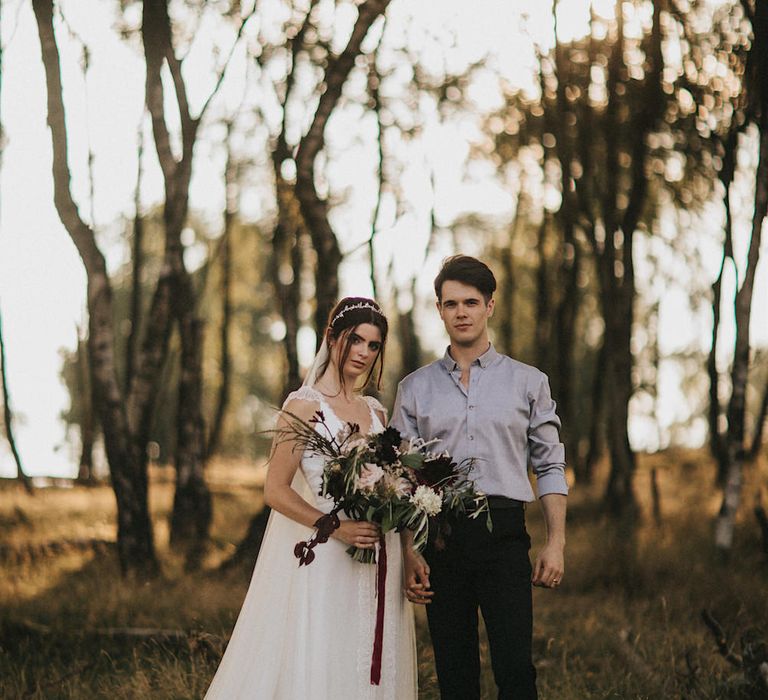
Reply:
<svg viewBox="0 0 768 700"><path fill-rule="evenodd" d="M650 514L650 470L661 493ZM739 674L717 653L701 622L720 620L736 653L740 636L768 639L768 565L751 516L768 465L747 475L730 561L713 552L718 498L713 466L698 453L641 457L641 525L629 531L600 514L600 483L569 502L567 572L558 591L535 592L535 661L543 700L716 698L738 694ZM184 575L167 548L171 474L153 473L152 511L163 578L121 580L108 487L45 489L27 496L0 487L0 697L200 698L234 624L250 571L215 566L261 507L261 477L243 465L214 465L212 546L206 569ZM541 515L529 510L534 551ZM58 544L52 544L58 543ZM420 698L437 698L428 634L419 611ZM114 628L167 629L147 641ZM483 649L483 697L494 697ZM757 695L753 697L758 697ZM355 700L355 699L340 699Z"/></svg>

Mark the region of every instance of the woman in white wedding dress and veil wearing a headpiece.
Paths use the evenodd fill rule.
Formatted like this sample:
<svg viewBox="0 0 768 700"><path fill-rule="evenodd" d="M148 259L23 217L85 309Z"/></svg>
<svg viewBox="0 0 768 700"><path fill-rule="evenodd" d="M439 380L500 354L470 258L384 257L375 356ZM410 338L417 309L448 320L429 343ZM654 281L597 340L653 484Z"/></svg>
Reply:
<svg viewBox="0 0 768 700"><path fill-rule="evenodd" d="M359 425L362 434L383 430L384 408L359 388L377 367L381 380L387 328L376 302L342 299L330 314L304 386L288 396L283 408L304 421L321 410L334 433L346 423ZM281 417L278 430L285 425ZM309 539L333 502L319 495L322 458L294 448L289 441L273 444L264 487L272 515L245 602L205 698L415 699L413 613L402 590L400 535L386 535L389 570L375 684L376 566L355 561L346 549L375 548L378 526L340 514L341 525L314 550L314 561L299 567L294 546Z"/></svg>

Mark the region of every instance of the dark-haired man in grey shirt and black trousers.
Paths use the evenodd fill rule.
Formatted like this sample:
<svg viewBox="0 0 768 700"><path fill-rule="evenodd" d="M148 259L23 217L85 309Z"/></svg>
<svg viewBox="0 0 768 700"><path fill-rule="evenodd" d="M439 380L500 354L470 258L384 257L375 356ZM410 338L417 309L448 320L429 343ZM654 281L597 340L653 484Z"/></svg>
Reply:
<svg viewBox="0 0 768 700"><path fill-rule="evenodd" d="M444 261L435 279L437 310L451 344L442 359L408 375L397 390L392 425L404 437L438 438L457 462L474 458L472 478L488 494L486 518L452 523L442 547L424 558L407 550L406 595L429 603L427 617L442 700L480 698L478 607L499 698L536 698L531 659L531 584L556 588L563 577L565 453L546 375L498 353L488 340L496 280L466 255ZM531 568L525 507L544 511L547 541Z"/></svg>

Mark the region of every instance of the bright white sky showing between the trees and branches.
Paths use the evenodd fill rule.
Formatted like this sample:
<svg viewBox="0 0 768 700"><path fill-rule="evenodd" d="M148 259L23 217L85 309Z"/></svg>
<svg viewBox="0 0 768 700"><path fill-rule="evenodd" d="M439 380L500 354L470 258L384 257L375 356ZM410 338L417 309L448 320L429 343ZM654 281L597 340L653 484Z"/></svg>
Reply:
<svg viewBox="0 0 768 700"><path fill-rule="evenodd" d="M95 0L68 0L59 3L69 26L91 50L91 68L87 82L79 65L80 48L57 27L62 53L65 103L70 138L70 164L73 169L73 191L80 204L83 218L94 222L102 236L108 236L110 227L121 216L133 214L133 188L137 168L137 128L142 119L144 99L143 64L136 47L128 46L114 31L113 3ZM247 5L247 3L243 3ZM265 2L264 16L269 8L278 16L278 0ZM559 23L562 37L569 39L586 31L587 13L583 0L563 0L560 3ZM612 2L600 0L595 7L601 14L612 13ZM521 50L517 37L523 21L520 9L527 12L525 22L543 45L551 41L551 6L548 3L512 3L508 0L420 0L418 3L394 0L390 6L387 31L398 31L398 22L405 31L406 10L410 29L428 27L436 42L450 44L451 34L458 46L446 59L457 66L481 56L493 47L497 68L511 81L524 83L530 71L521 63L527 51ZM338 20L338 45L346 40L349 23L354 15L341 15ZM642 18L635 18L641 21ZM0 114L5 129L5 149L0 173L0 311L3 315L7 343L7 365L12 407L16 414L16 434L26 470L30 474L73 475L76 471L77 445L65 439L64 424L59 413L68 404L68 397L59 378L61 348L72 348L76 341L76 326L85 324L85 275L79 257L69 236L59 222L53 206L53 185L50 174L50 134L46 126L46 90L37 28L30 3L8 0L2 7L3 85ZM275 20L277 21L277 20ZM631 26L630 26L631 29ZM193 44L185 68L193 112L202 104L213 84L210 71L210 39L205 38L209 28L201 27L200 39ZM379 30L380 31L380 28ZM249 35L246 31L246 37ZM229 46L227 37L218 43ZM336 47L338 48L338 46ZM435 51L434 60L444 60ZM246 80L244 47L236 51L227 81L212 105L211 113L221 116L235 109L243 94ZM119 74L119 77L117 75ZM190 79L194 76L194 79ZM199 76L199 77L198 77ZM482 83L474 98L492 104L495 92ZM485 92L484 92L485 90ZM487 94L486 94L487 93ZM269 108L265 108L266 118ZM422 159L419 167L406 169L403 187L416 203L413 213L392 226L394 205L385 201L379 220L380 269L386 269L389 258L395 255L396 280L403 282L416 274L422 264L423 274L419 288L424 298L430 298L430 285L440 257L451 253L448 242L442 241L434 254L424 262L419 255L398 256L397 251L418 250L426 246L430 230L430 207L434 198L438 223L447 225L456 216L468 211L505 217L513 210L514 201L492 179L487 177L466 179L465 158L469 140L474 136L472 127L434 128L423 139L417 155ZM373 209L375 158L372 147L359 145L360 133L349 129L329 129L329 148L338 156L334 170L329 172L334 191L358 186L361 175L369 180L362 186L354 202L346 202L333 213L332 223L339 235L343 250L353 250L364 241L370 231ZM95 153L95 198L91 208L87 175L88 144ZM361 151L361 148L363 149ZM367 148L367 150L366 150ZM361 164L361 152L363 153ZM191 206L203 212L211 222L219 221L224 202L224 154L218 146L202 142L196 151L196 168L191 187ZM148 209L161 201L162 182L156 160L150 153L144 162L145 178L142 187L142 205ZM364 172L361 173L361 168ZM435 190L429 181L434 173ZM268 188L268 181L263 187ZM366 189L367 187L367 189ZM745 232L749 220L749 187L743 191L743 216L739 218L737 240L743 251L747 240ZM265 214L271 194L268 189L253 189L243 198L244 216L257 218ZM356 202L356 203L355 203ZM719 208L708 212L707 226L711 236L704 236L702 248L711 274L716 274L719 262L717 223ZM704 225L702 224L702 227ZM114 236L112 237L114 238ZM709 241L709 243L707 243ZM709 248L708 248L709 247ZM110 263L120 262L121 246L108 247ZM474 251L467 251L474 252ZM760 286L756 299L768 298L765 285L765 258L760 272ZM342 293L369 294L363 252L350 255L342 266ZM384 280L384 283L391 283ZM687 312L687 302L678 298L682 292L670 294L662 307L661 324L664 348L671 352L701 339L702 347L708 342L708 318ZM753 338L756 343L768 343L768 312L764 301L755 310ZM424 344L438 349L445 338L438 324L427 323L423 332ZM723 341L728 346L728 330ZM310 343L311 343L311 339ZM724 360L725 361L725 360ZM669 379L670 386L674 378ZM674 393L674 389L672 389ZM671 423L685 411L684 402L668 402L662 422ZM647 426L634 426L633 441L643 447L643 431ZM75 441L76 442L76 441ZM652 441L649 443L652 446ZM0 439L0 475L15 473L5 442Z"/></svg>

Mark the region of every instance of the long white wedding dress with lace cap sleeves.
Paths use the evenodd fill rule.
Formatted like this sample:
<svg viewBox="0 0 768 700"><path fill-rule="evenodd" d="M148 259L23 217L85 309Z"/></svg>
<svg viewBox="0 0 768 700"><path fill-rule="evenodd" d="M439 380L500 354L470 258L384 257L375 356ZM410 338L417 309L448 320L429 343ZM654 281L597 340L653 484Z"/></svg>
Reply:
<svg viewBox="0 0 768 700"><path fill-rule="evenodd" d="M293 398L319 402L333 433L343 427L315 389L302 387L288 400ZM383 430L374 411L381 405L365 398L372 432ZM333 503L319 495L322 473L322 457L305 452L292 485L327 513ZM206 700L416 698L416 640L413 611L403 595L400 536L386 535L381 680L372 685L376 566L356 562L345 544L331 538L315 547L311 564L299 568L294 546L313 532L272 511L245 602Z"/></svg>

